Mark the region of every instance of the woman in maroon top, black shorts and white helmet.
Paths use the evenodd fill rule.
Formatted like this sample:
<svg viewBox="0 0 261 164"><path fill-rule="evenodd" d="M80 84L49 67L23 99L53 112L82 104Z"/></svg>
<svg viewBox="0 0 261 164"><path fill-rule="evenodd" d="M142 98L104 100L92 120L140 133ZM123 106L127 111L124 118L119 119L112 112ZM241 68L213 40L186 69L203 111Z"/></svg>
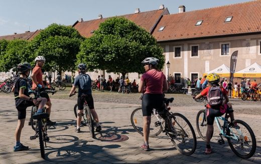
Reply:
<svg viewBox="0 0 261 164"><path fill-rule="evenodd" d="M168 90L166 76L156 68L158 61L159 59L154 57L147 57L142 61L146 72L142 75L139 85L139 92L144 93L142 100L144 144L141 148L146 151L149 150L152 110L164 109L163 91Z"/></svg>

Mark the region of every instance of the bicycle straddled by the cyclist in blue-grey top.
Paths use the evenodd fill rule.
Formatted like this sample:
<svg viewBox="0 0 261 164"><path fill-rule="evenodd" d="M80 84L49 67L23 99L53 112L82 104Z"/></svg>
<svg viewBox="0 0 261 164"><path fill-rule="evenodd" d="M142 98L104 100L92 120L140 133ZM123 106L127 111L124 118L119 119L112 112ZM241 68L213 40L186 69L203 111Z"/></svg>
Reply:
<svg viewBox="0 0 261 164"><path fill-rule="evenodd" d="M75 94L75 93L74 93ZM72 95L74 95L72 94ZM72 96L70 95L70 96ZM91 113L91 110L87 104L87 101L86 101L86 96L88 96L87 94L82 94L81 96L84 97L84 104L83 104L83 120L81 121L82 124L84 125L88 125L89 127L89 131L90 131L90 134L91 134L91 137L94 138L95 137L95 134L94 134L94 125L96 124L96 121ZM77 114L78 114L78 104L76 103L74 105L74 114L77 118ZM80 116L80 115L79 115Z"/></svg>

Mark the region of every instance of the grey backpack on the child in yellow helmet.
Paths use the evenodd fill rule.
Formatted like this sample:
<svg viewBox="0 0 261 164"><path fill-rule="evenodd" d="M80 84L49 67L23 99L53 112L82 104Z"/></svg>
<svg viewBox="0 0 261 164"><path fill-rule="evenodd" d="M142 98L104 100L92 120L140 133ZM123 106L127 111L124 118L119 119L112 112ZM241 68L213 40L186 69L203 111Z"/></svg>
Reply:
<svg viewBox="0 0 261 164"><path fill-rule="evenodd" d="M222 105L224 96L219 86L210 86L208 90L208 104L211 107L219 107Z"/></svg>

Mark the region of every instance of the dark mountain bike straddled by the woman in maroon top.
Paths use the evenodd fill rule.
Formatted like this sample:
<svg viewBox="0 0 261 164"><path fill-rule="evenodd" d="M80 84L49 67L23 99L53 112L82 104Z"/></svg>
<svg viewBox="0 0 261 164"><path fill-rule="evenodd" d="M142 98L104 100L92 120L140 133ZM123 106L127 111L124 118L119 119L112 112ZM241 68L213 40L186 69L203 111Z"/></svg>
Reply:
<svg viewBox="0 0 261 164"><path fill-rule="evenodd" d="M170 112L169 103L174 98L164 98L165 109L153 109L150 137L159 135L162 131L171 139L173 145L184 155L194 153L197 140L195 131L189 120L180 113ZM137 132L143 135L142 108L136 108L131 114L131 122Z"/></svg>

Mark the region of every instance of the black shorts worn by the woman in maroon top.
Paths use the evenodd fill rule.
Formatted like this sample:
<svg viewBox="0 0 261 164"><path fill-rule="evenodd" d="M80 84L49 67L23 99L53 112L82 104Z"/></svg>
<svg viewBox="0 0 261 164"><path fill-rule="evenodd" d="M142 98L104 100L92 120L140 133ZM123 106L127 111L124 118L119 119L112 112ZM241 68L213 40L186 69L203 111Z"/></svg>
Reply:
<svg viewBox="0 0 261 164"><path fill-rule="evenodd" d="M152 110L162 111L165 108L163 94L145 93L142 99L143 116L152 115Z"/></svg>

